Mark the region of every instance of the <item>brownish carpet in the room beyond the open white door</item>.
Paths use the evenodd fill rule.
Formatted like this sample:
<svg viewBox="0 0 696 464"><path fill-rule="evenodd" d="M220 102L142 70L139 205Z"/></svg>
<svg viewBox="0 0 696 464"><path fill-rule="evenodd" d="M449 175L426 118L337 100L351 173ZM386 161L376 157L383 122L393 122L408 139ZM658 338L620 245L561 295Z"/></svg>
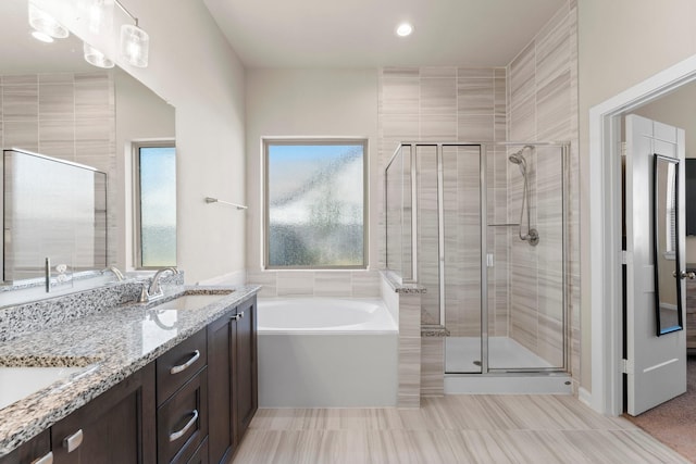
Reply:
<svg viewBox="0 0 696 464"><path fill-rule="evenodd" d="M696 463L696 356L686 361L686 393L629 421Z"/></svg>

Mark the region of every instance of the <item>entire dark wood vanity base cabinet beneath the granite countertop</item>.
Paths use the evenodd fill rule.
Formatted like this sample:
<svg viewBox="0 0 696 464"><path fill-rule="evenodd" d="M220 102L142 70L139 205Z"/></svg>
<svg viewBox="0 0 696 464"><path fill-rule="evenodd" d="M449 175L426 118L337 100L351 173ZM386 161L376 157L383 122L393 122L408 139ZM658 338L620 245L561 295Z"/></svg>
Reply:
<svg viewBox="0 0 696 464"><path fill-rule="evenodd" d="M251 297L0 464L229 463L257 409Z"/></svg>

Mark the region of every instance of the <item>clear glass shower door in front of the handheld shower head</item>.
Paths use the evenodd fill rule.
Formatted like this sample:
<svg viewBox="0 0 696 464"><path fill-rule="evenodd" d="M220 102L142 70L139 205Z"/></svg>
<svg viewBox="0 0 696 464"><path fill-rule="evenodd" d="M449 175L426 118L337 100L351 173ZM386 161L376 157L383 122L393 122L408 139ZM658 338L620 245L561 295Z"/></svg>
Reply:
<svg viewBox="0 0 696 464"><path fill-rule="evenodd" d="M487 159L492 371L566 366L562 150L508 146Z"/></svg>

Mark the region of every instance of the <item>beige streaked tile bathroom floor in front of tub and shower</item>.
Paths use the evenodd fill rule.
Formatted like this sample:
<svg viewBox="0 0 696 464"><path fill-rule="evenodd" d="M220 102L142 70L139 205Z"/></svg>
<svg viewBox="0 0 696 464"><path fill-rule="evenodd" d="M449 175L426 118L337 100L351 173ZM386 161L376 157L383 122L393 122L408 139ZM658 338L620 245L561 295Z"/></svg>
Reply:
<svg viewBox="0 0 696 464"><path fill-rule="evenodd" d="M259 410L234 464L687 463L571 396L446 396L421 409Z"/></svg>

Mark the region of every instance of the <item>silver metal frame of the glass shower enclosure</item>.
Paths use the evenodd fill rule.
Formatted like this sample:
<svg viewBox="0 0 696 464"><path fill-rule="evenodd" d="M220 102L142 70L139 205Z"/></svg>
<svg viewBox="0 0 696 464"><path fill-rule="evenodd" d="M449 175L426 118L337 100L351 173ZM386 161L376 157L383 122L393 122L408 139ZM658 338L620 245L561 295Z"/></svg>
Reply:
<svg viewBox="0 0 696 464"><path fill-rule="evenodd" d="M558 147L560 149L561 156L561 183L562 183L562 217L561 217L561 227L562 227L562 277L561 277L561 286L562 286L562 317L561 317L561 331L562 331L562 365L561 366L552 366L552 367L495 367L490 368L489 366L489 330L488 330L488 185L487 185L487 161L489 155L489 150L493 147ZM446 299L445 299L445 214L444 214L444 167L443 167L443 148L444 147L478 147L478 190L480 190L480 226L481 226L481 237L480 237L480 271L481 271L481 279L480 279L480 291L481 291L481 303L480 303L480 316L481 316L481 372L480 373L447 373L446 375L451 376L468 376L468 375L506 375L506 374L519 374L519 373L527 373L527 374L558 374L558 373L568 373L570 366L570 318L569 318L569 299L568 299L568 275L569 275L569 239L568 239L568 214L570 212L569 204L569 193L568 193L568 181L569 181L569 152L570 152L570 143L561 142L561 141L543 141L543 142L470 142L470 141L405 141L399 143L397 149L395 150L393 156L385 167L385 179L386 172L389 166L394 162L394 160L399 154L400 150L405 147L408 147L410 150L410 197L411 197L411 278L402 279L402 283L409 284L418 284L418 211L419 211L419 199L418 199L418 170L417 170L417 159L418 159L418 147L435 147L436 148L436 158L437 158L437 216L438 216L438 310L439 310L439 326L427 326L423 325L424 329L439 329L446 328L445 321L445 310L446 310ZM506 153L507 154L507 153ZM388 198L388 186L385 181L385 202ZM385 203L386 204L386 203ZM529 208L529 205L527 205ZM388 213L388 208L386 208ZM388 224L388 220L386 221ZM401 226L403 227L403 221L401 222ZM385 226L386 227L386 226ZM388 240L388 237L387 237ZM388 249L388 248L387 248ZM388 268L388 252L387 252L387 268ZM403 261L401 260L401 264ZM446 355L446 353L445 353Z"/></svg>

